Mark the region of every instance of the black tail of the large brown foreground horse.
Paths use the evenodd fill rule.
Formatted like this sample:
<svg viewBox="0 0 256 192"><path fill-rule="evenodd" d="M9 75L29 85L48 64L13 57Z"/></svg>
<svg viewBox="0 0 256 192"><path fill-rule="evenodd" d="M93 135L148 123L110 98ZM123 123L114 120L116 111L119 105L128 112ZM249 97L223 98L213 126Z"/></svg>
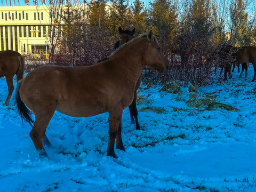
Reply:
<svg viewBox="0 0 256 192"><path fill-rule="evenodd" d="M31 111L27 108L25 103L20 98L20 86L21 86L22 80L18 82L16 92L15 92L15 105L18 108L18 113L20 117L25 119L31 127L33 127L35 121L31 119Z"/></svg>

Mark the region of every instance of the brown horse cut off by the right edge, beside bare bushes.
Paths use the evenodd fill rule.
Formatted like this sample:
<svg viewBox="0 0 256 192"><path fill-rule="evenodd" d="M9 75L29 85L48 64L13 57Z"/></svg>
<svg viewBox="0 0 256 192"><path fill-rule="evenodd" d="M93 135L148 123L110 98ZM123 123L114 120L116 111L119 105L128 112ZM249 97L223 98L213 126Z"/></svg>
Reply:
<svg viewBox="0 0 256 192"><path fill-rule="evenodd" d="M256 47L254 46L243 46L243 47L233 47L235 51L233 52L233 57L235 58L235 65L239 65L242 63L242 71L239 77L242 77L245 70L245 78L248 76L248 62L252 62L252 66L254 69L254 76L252 82L255 81L256 76ZM225 70L225 74L227 71Z"/></svg>

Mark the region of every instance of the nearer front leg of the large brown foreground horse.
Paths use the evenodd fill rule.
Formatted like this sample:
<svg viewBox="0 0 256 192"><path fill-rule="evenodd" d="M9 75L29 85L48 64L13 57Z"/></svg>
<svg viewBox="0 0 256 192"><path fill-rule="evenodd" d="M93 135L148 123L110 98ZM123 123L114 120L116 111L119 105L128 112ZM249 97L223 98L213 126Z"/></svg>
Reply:
<svg viewBox="0 0 256 192"><path fill-rule="evenodd" d="M121 123L121 119L122 119L122 114L123 111L121 113L109 113L109 121L108 121L108 148L107 148L107 156L113 157L113 158L117 158L116 154L115 154L115 139L116 139L116 135L118 132L118 127Z"/></svg>

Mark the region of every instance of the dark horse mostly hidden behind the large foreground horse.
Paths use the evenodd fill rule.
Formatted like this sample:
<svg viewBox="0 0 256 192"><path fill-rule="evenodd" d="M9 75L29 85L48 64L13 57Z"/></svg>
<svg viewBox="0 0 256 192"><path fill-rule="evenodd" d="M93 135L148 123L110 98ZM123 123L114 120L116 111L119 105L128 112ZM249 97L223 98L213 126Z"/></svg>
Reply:
<svg viewBox="0 0 256 192"><path fill-rule="evenodd" d="M133 39L133 35L135 33L135 29L133 29L132 31L126 29L126 30L123 30L121 27L118 28L118 31L119 31L119 34L120 34L120 39L119 41L117 41L115 43L115 46L114 46L114 49L116 50L119 46L131 41ZM130 111L130 116L131 116L131 123L135 124L135 127L137 130L140 130L140 124L139 124L139 121L138 121L138 110L137 110L137 106L136 106L136 103L137 103L137 90L139 89L140 87L140 83L141 83L141 75L136 83L136 86L135 86L135 91L134 91L134 98L132 100L132 103L131 105L129 106L129 111ZM135 122L134 122L134 119L135 119Z"/></svg>

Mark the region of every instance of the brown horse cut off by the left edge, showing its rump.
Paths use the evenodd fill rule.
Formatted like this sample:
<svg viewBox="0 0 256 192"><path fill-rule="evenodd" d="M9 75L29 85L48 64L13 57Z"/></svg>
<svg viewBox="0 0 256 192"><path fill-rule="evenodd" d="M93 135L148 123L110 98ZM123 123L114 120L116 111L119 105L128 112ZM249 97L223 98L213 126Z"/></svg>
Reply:
<svg viewBox="0 0 256 192"><path fill-rule="evenodd" d="M17 82L20 81L23 78L24 65L24 58L20 53L12 50L0 51L0 77L5 76L8 86L8 95L4 103L6 106L9 105L14 90L13 76L16 74Z"/></svg>

